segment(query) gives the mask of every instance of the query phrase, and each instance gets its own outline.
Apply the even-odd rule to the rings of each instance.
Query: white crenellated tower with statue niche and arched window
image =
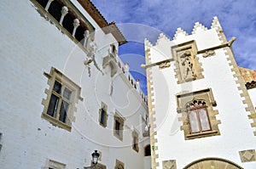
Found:
[[[256,168],[256,72],[236,65],[235,40],[216,17],[145,40],[152,168]]]

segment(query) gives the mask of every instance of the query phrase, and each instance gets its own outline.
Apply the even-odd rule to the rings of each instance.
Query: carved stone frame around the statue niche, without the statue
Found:
[[[191,82],[195,80],[199,80],[204,78],[202,75],[203,69],[201,68],[201,62],[199,61],[199,58],[196,56],[197,54],[197,46],[195,43],[195,40],[189,41],[189,42],[183,42],[181,44],[172,46],[172,57],[175,60],[175,77],[177,78],[177,84],[181,84],[184,82]],[[194,67],[193,70],[195,71],[195,78],[185,80],[182,76],[182,70],[180,67],[180,63],[182,60],[180,59],[180,56],[178,56],[178,53],[183,53],[186,55],[186,53],[189,52],[193,56],[193,62]]]

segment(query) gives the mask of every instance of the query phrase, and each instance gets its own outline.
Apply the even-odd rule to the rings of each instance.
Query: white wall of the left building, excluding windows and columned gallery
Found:
[[[0,166],[48,168],[49,161],[56,161],[67,169],[82,169],[90,166],[91,153],[97,149],[101,152],[99,163],[107,168],[114,168],[116,160],[128,169],[146,168],[150,164],[147,160],[144,164],[143,150],[148,143],[143,138],[147,99],[138,87],[131,85],[131,81],[136,81],[118,56],[116,67],[104,65],[111,45],[118,49],[117,40],[111,33],[105,34],[77,1],[72,2],[96,28],[95,58],[59,30],[48,15],[43,17],[31,1],[0,3],[4,16],[0,32]],[[89,59],[92,62],[84,64]],[[71,132],[42,118],[45,92],[49,90],[44,73],[49,74],[51,68],[60,70],[81,88]],[[111,76],[113,70],[117,72]],[[99,125],[102,103],[108,106],[107,127]],[[122,141],[113,136],[116,112],[125,119]],[[131,148],[133,131],[138,132],[138,152]]]

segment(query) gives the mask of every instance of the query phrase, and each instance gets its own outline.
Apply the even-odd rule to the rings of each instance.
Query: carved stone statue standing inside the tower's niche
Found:
[[[187,50],[183,54],[180,55],[181,60],[181,75],[185,82],[194,81],[196,79],[196,75],[193,68],[193,56],[190,51]]]

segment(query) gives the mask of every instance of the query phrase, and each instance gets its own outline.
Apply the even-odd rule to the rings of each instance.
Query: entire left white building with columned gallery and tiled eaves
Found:
[[[117,26],[89,0],[0,6],[1,168],[82,169],[95,149],[97,168],[150,168],[147,97]]]

